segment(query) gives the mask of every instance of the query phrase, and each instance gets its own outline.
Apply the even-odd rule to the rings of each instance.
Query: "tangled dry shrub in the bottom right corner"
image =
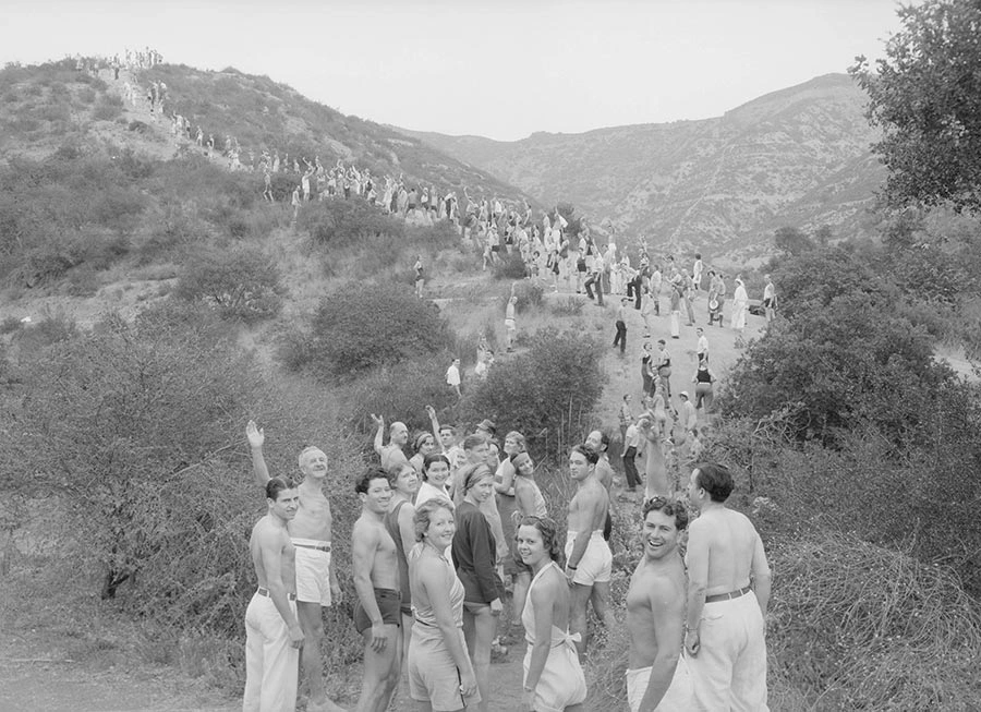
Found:
[[[977,710],[981,618],[945,567],[815,533],[771,552],[772,677],[816,710]]]

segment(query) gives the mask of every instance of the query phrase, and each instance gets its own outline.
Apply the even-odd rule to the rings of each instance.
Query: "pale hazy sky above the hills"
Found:
[[[879,57],[895,0],[0,0],[0,62],[155,47],[344,113],[517,140],[703,119]]]

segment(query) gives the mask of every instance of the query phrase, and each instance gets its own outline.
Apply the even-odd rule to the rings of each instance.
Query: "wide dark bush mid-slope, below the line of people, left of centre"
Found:
[[[355,283],[324,298],[310,348],[293,365],[320,377],[351,376],[443,353],[451,345],[450,328],[432,302],[401,285]]]

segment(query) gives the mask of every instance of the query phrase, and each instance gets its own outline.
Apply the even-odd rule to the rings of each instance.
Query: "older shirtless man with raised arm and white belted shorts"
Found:
[[[265,487],[269,470],[263,457],[266,435],[249,421],[245,436],[252,450],[252,471],[259,486]],[[324,638],[324,622],[320,607],[330,606],[340,600],[340,587],[334,567],[330,566],[331,523],[330,502],[324,495],[327,482],[327,456],[323,450],[307,447],[300,452],[300,472],[303,482],[296,487],[299,508],[295,518],[289,522],[289,534],[296,547],[296,613],[300,627],[306,639],[301,663],[310,681],[310,712],[343,712],[342,708],[327,699],[324,686],[324,665],[320,660],[320,641]],[[264,708],[265,709],[265,708]],[[291,708],[292,709],[292,708]]]

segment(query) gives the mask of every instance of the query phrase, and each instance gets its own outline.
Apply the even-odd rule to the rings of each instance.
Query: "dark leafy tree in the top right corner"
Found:
[[[898,10],[903,29],[873,70],[849,73],[869,93],[867,117],[883,129],[874,146],[891,205],[981,210],[981,2],[925,0]]]

